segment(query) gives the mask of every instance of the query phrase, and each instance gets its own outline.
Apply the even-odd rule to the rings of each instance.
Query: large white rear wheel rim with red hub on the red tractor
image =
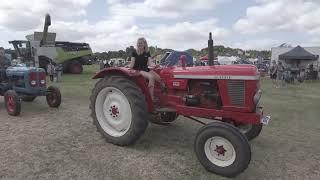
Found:
[[[114,87],[102,89],[96,99],[95,111],[101,128],[110,136],[123,136],[130,129],[131,106],[119,89]]]

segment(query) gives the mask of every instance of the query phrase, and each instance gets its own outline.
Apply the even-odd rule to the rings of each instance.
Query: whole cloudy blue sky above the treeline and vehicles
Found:
[[[149,45],[184,50],[215,44],[270,49],[282,43],[320,46],[318,0],[4,0],[0,43],[41,31],[49,12],[58,40],[120,50],[146,37]]]

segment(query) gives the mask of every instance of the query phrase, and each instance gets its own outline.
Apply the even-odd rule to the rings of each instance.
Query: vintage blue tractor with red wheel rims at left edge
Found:
[[[46,73],[42,68],[25,65],[0,65],[0,95],[4,96],[9,115],[18,116],[21,100],[33,101],[37,96],[46,96],[50,107],[59,107],[61,93],[57,87],[46,85]]]

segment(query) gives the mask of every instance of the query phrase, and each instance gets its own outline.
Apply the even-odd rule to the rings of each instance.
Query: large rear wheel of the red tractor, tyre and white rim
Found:
[[[90,101],[93,123],[110,143],[120,146],[133,144],[148,126],[144,95],[126,77],[101,79],[92,90]]]

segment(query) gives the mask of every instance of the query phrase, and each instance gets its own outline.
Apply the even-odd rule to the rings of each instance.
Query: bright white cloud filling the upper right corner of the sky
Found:
[[[318,0],[257,0],[247,8],[234,30],[244,33],[270,31],[302,31],[319,33],[320,2]]]

